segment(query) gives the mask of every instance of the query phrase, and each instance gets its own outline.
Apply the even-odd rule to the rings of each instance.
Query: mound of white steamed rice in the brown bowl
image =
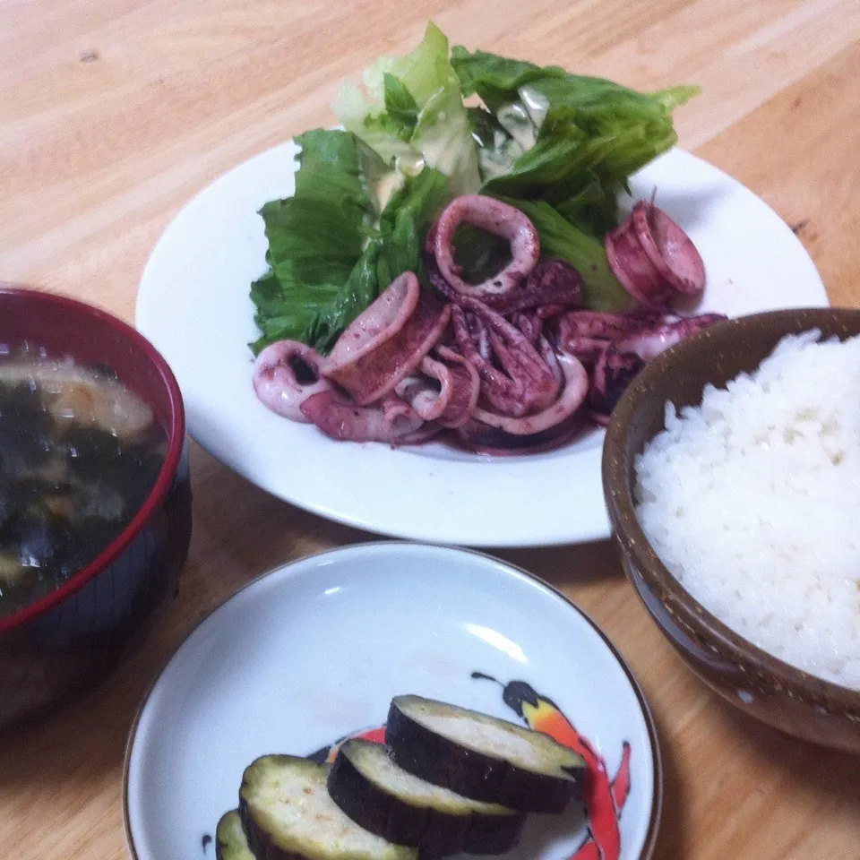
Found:
[[[642,529],[702,606],[860,690],[860,338],[788,336],[701,407],[667,403],[635,468]]]

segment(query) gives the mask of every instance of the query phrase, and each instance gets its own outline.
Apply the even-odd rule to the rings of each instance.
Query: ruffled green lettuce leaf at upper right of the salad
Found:
[[[486,193],[544,200],[597,236],[615,226],[615,199],[627,177],[677,142],[672,110],[698,92],[675,87],[649,95],[459,46],[452,65],[463,95],[477,93],[524,150],[501,171],[487,169],[493,159],[482,155]],[[471,120],[477,138],[486,137],[486,118],[473,112]],[[498,134],[494,142],[495,152],[511,145]]]

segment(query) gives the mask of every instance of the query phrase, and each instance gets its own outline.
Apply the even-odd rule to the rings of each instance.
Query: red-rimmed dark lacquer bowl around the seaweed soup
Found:
[[[60,588],[0,616],[0,726],[104,677],[176,595],[191,539],[185,412],[167,363],[131,326],[70,298],[0,285],[0,349],[109,366],[168,440],[159,477],[125,530]]]

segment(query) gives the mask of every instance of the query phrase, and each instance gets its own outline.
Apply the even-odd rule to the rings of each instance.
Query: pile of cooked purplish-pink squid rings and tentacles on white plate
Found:
[[[464,224],[502,236],[511,262],[469,283],[455,262]],[[701,256],[652,203],[606,236],[606,254],[637,305],[582,307],[580,273],[540,259],[538,233],[506,203],[451,202],[430,229],[429,287],[407,271],[341,335],[331,355],[282,340],[257,358],[262,402],[333,439],[425,442],[447,432],[494,453],[545,451],[589,422],[606,424],[633,376],[661,350],[724,319],[681,317],[668,305],[704,288]]]

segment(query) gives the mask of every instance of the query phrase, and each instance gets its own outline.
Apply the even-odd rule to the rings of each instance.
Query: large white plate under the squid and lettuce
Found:
[[[609,536],[603,431],[562,450],[488,458],[431,443],[337,443],[262,406],[251,385],[251,281],[265,269],[262,204],[293,193],[287,143],[231,170],[180,212],[143,272],[137,326],[167,358],[189,432],[230,468],[332,520],[400,538],[538,546]],[[692,237],[708,271],[701,311],[729,316],[826,305],[787,225],[730,176],[681,150],[632,181]]]

